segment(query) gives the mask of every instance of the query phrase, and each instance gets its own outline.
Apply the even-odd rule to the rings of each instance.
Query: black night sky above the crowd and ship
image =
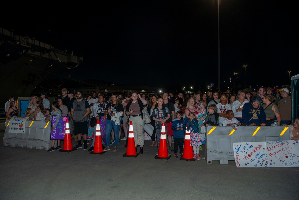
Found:
[[[99,1],[88,10],[13,13],[0,27],[74,52],[72,78],[182,90],[218,86],[217,1]],[[83,7],[83,6],[82,6]],[[48,10],[47,10],[48,9]],[[220,1],[221,89],[290,84],[298,74],[298,17],[287,1]],[[16,20],[17,19],[17,20]],[[236,83],[236,79],[235,79]]]

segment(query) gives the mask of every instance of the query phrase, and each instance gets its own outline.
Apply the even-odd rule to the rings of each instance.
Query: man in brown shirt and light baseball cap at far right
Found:
[[[288,88],[282,88],[279,91],[280,91],[280,96],[283,97],[278,102],[278,108],[281,117],[280,124],[289,125],[292,119],[292,98],[291,96],[289,96]]]

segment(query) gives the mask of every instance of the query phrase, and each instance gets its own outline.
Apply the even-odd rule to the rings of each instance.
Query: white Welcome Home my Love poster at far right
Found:
[[[299,141],[267,141],[266,146],[271,167],[299,167]]]

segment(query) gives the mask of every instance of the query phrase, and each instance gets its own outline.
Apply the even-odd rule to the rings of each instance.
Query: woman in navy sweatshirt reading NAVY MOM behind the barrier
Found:
[[[242,120],[247,126],[266,126],[266,114],[261,103],[262,97],[255,95],[251,98],[251,102],[244,104]]]

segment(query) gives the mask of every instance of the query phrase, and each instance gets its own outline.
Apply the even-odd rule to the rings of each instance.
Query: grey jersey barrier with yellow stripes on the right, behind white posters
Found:
[[[234,159],[234,142],[263,142],[289,140],[288,127],[273,126],[239,126],[234,130],[231,126],[208,126],[206,133],[206,161],[219,160],[220,164],[228,164]]]

